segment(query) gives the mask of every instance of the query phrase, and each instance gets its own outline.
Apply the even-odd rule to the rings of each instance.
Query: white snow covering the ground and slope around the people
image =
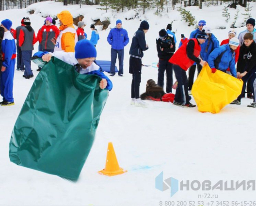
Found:
[[[61,5],[53,1],[41,2],[32,5],[38,9],[37,14],[29,15],[25,9],[2,11],[0,14],[2,19],[10,18],[13,21],[13,28],[19,25],[23,16],[30,16],[32,27],[37,32],[44,21],[39,12],[53,16],[68,9],[73,15],[86,14],[84,21],[87,25],[93,23],[89,16],[96,18],[104,13],[96,10],[96,6],[78,9],[79,6]],[[255,11],[256,3],[251,5]],[[232,23],[234,9],[230,9],[229,23],[225,23],[224,17],[221,16],[223,6],[205,7],[202,11],[197,7],[189,9],[197,21],[207,21],[220,42],[227,38],[229,28],[216,28]],[[189,36],[193,30],[180,21],[176,11],[163,13],[161,17],[154,16],[154,12],[148,11],[140,18],[147,19],[150,24],[149,32],[146,33],[149,50],[144,52],[144,64],[158,61],[155,38],[160,29],[165,28],[168,23],[174,21],[173,30],[176,32],[177,45],[181,33]],[[115,16],[112,16],[112,13],[103,14],[109,16],[112,22],[117,18],[122,19],[123,27],[128,30],[131,39],[139,27],[140,20],[125,20],[125,17],[130,15],[131,11]],[[253,17],[256,17],[255,14]],[[244,27],[236,29],[238,33],[242,30]],[[85,31],[90,38],[88,26]],[[109,30],[99,32],[98,60],[110,60],[111,47],[106,41],[108,33]],[[36,44],[34,51],[37,51],[37,46]],[[164,179],[174,177],[179,181],[210,180],[215,184],[219,180],[255,180],[256,110],[246,107],[252,102],[247,98],[242,99],[240,106],[228,105],[218,114],[200,113],[197,108],[185,109],[171,103],[152,101],[148,101],[148,108],[134,108],[129,105],[129,47],[130,43],[125,50],[124,77],[112,78],[114,87],[101,115],[96,141],[77,183],[70,183],[58,176],[19,167],[10,162],[8,152],[11,132],[34,80],[24,79],[22,72],[15,71],[15,106],[0,107],[0,206],[160,206],[160,201],[163,206],[206,206],[207,203],[208,206],[231,206],[231,201],[239,201],[241,206],[241,201],[247,201],[243,205],[249,206],[249,201],[256,201],[256,192],[252,189],[203,191],[201,188],[198,191],[178,191],[173,197],[170,197],[170,190],[161,192],[155,189],[155,177],[162,171]],[[38,72],[34,64],[32,69],[36,76]],[[153,67],[143,69],[141,93],[144,92],[148,79],[157,80],[157,73],[157,69]],[[128,173],[112,177],[97,174],[97,171],[105,166],[108,142],[113,143],[119,164],[128,170]],[[204,193],[218,195],[218,198],[198,196]],[[220,201],[229,203],[220,204]]]

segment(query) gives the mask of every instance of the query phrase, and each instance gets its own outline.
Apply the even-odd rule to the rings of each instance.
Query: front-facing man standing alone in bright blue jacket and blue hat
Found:
[[[113,28],[108,35],[108,43],[111,45],[111,67],[110,67],[110,76],[115,75],[115,63],[118,55],[119,61],[119,77],[123,77],[124,74],[124,56],[125,49],[124,47],[129,43],[128,32],[122,28],[122,21],[118,19],[116,21],[116,27]]]

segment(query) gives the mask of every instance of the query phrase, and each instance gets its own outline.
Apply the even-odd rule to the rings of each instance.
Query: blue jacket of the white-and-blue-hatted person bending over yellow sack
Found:
[[[226,50],[226,51],[225,51]],[[226,71],[227,68],[230,68],[230,72],[233,77],[237,77],[237,72],[236,72],[236,63],[235,63],[235,52],[231,50],[228,44],[222,45],[221,47],[215,48],[209,55],[208,57],[208,64],[210,68],[215,68],[214,65],[214,60],[218,56],[221,55],[221,53],[225,51],[223,54],[221,61],[219,63],[219,70],[221,71]]]

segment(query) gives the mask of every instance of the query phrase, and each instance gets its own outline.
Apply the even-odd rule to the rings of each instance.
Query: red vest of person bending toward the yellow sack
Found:
[[[198,43],[197,39],[190,39],[190,40],[194,41],[195,43],[194,53],[193,53],[194,56],[199,57],[199,54],[201,51],[200,44]],[[188,40],[187,42],[184,42],[183,45],[174,53],[174,55],[169,60],[170,63],[180,66],[185,71],[187,71],[188,68],[191,67],[194,63],[194,61],[192,61],[187,56],[187,44],[190,40]]]

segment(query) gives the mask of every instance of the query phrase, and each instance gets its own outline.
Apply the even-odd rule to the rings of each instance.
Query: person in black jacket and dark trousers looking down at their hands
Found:
[[[160,30],[159,37],[157,38],[159,57],[157,84],[163,88],[164,73],[166,72],[166,93],[172,93],[173,64],[169,63],[169,59],[174,55],[175,49],[174,36],[167,33],[164,29]]]

